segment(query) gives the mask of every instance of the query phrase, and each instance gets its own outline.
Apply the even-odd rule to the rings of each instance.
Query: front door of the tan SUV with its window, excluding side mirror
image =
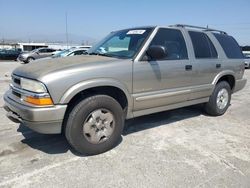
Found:
[[[159,28],[151,45],[167,49],[165,59],[134,62],[133,98],[134,110],[161,107],[184,102],[191,86],[192,66],[183,33],[179,29]]]

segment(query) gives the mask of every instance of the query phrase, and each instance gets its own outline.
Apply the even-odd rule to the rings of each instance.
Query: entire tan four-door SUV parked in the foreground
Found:
[[[88,55],[12,73],[4,109],[14,122],[64,133],[84,154],[119,143],[125,119],[203,103],[223,115],[246,79],[241,49],[224,31],[188,25],[111,32]]]

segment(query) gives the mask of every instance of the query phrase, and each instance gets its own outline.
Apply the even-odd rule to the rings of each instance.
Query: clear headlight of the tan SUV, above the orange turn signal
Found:
[[[30,80],[30,79],[26,79],[26,78],[21,78],[21,88],[27,91],[32,91],[32,92],[36,92],[36,93],[46,93],[47,90],[45,88],[45,86],[38,81],[35,80]]]

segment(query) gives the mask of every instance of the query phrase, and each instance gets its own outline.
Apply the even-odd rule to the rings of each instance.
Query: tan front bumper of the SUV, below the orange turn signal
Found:
[[[16,123],[23,123],[30,129],[44,134],[59,134],[67,105],[49,107],[32,107],[21,104],[9,96],[11,91],[4,94],[4,109],[7,117]]]

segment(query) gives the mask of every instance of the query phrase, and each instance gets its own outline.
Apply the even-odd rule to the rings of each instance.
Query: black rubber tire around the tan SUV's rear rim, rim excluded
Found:
[[[218,105],[217,105],[217,97],[218,97],[219,92],[222,89],[225,89],[227,91],[228,100],[227,100],[227,103],[226,103],[225,107],[219,108]],[[213,91],[212,95],[209,98],[209,101],[205,104],[206,113],[211,115],[211,116],[223,115],[227,111],[227,109],[228,109],[228,107],[230,105],[231,92],[232,92],[231,87],[228,84],[228,82],[221,81],[221,82],[217,83],[215,88],[214,88],[214,91]]]

